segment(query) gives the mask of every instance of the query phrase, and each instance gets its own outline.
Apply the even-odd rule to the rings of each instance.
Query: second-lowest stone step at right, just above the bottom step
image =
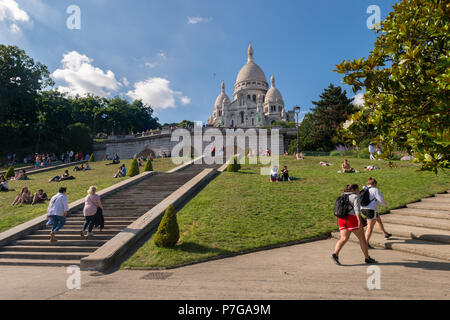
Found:
[[[450,243],[450,231],[437,230],[413,226],[405,226],[393,223],[383,223],[387,232],[392,233],[398,237],[404,237],[407,239],[417,239],[438,243]],[[374,233],[381,233],[380,229],[375,226]]]

